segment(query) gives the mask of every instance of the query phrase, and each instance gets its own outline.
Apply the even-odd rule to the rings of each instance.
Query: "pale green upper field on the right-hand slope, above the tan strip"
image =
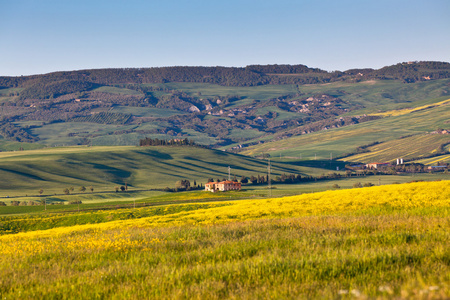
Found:
[[[439,99],[439,101],[442,100]],[[274,157],[283,155],[291,157],[301,156],[304,159],[329,159],[330,155],[337,157],[346,153],[353,153],[357,147],[369,145],[376,141],[393,141],[404,136],[420,135],[435,131],[438,128],[447,128],[449,126],[447,123],[449,115],[450,104],[446,103],[404,115],[323,130],[288,139],[271,141],[270,138],[267,138],[266,143],[250,146],[241,153],[251,156],[269,153]],[[442,137],[443,142],[445,142],[445,139],[445,137]],[[433,146],[436,146],[436,144],[433,144]],[[428,149],[428,146],[425,146],[425,149]],[[433,149],[428,150],[433,151]],[[412,151],[414,149],[411,149],[410,152]],[[395,151],[392,151],[389,157],[386,159],[380,157],[380,159],[388,160],[390,157],[397,158],[408,154],[401,151],[398,154],[395,153]],[[422,153],[422,155],[427,155],[428,153]],[[414,155],[420,154],[416,153]]]

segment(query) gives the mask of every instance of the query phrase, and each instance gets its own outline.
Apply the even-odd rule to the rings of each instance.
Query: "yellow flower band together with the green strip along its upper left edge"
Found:
[[[402,212],[447,215],[449,210],[450,181],[416,182],[258,200],[178,204],[81,214],[3,217],[0,219],[0,234],[48,229],[47,232],[36,231],[35,234],[39,236],[78,230],[109,230],[123,226],[223,224],[311,215],[380,215]],[[52,229],[53,227],[60,228]],[[21,235],[31,237],[33,233],[21,233],[17,237]]]

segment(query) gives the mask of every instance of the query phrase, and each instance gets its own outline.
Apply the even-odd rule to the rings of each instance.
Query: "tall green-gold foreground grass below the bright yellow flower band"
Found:
[[[11,257],[1,264],[0,288],[6,299],[443,299],[450,295],[449,237],[440,222],[449,219],[325,216],[135,228],[126,233],[130,241],[147,241],[139,247],[56,246]],[[103,239],[112,243],[115,236],[119,230]],[[77,238],[83,236],[51,243]]]

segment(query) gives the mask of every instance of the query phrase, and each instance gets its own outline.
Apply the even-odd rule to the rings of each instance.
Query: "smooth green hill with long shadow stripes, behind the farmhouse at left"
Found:
[[[0,196],[61,194],[64,188],[94,186],[113,191],[125,182],[131,188],[174,187],[180,179],[205,183],[210,177],[257,176],[267,172],[267,161],[223,151],[190,147],[69,147],[0,153]],[[314,173],[316,169],[274,163],[281,173]]]

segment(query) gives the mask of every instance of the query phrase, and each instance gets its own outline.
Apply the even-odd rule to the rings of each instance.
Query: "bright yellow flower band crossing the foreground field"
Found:
[[[7,252],[3,243],[6,241],[14,240],[18,242],[30,238],[52,238],[80,231],[101,234],[103,231],[126,227],[224,224],[263,218],[349,214],[374,208],[406,210],[426,207],[450,207],[450,181],[416,182],[340,191],[333,190],[282,198],[221,202],[218,207],[183,211],[163,216],[18,233],[0,236],[0,242],[2,242],[0,254]],[[33,251],[38,251],[36,249],[39,249],[39,247],[33,247],[33,249]]]

